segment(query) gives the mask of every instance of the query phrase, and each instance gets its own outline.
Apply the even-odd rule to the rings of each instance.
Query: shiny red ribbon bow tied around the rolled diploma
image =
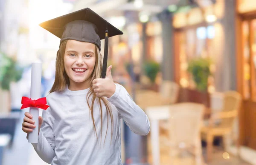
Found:
[[[46,110],[49,106],[46,105],[47,101],[46,98],[38,98],[37,100],[31,100],[31,98],[22,96],[21,98],[22,106],[20,109],[27,108],[27,107],[36,107]]]

